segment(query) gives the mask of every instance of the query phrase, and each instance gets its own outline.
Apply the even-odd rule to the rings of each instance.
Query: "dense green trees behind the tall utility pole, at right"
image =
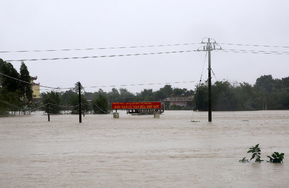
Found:
[[[208,84],[196,85],[195,109],[208,111]],[[213,111],[289,109],[289,77],[273,79],[272,75],[257,78],[256,83],[217,81],[212,84]]]

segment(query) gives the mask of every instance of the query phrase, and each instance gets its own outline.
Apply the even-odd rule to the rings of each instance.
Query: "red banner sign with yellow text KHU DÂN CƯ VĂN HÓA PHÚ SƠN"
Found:
[[[111,103],[112,109],[162,108],[161,102]]]

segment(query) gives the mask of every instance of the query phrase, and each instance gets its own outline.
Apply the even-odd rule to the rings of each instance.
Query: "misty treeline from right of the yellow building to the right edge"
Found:
[[[194,94],[194,101],[192,101],[192,103],[195,104],[194,109],[208,111],[208,82],[195,86],[195,90],[188,90],[186,88],[173,88],[171,85],[164,85],[164,87],[156,91],[144,89],[136,94],[133,94],[126,88],[112,88],[109,92],[99,89],[97,92],[86,93],[83,91],[82,97],[85,103],[87,103],[86,99],[98,100],[99,98],[105,98],[108,103],[107,108],[110,108],[111,102],[162,101],[164,98]],[[58,95],[59,102],[57,104],[77,105],[78,91],[76,89],[77,83],[75,83],[74,90],[72,89],[62,93],[53,92]],[[53,96],[49,93],[51,92],[42,93],[42,101]],[[101,105],[101,103],[98,103],[98,105]],[[88,109],[91,110],[92,107],[88,107]],[[262,109],[289,109],[289,77],[273,79],[272,75],[264,75],[257,78],[254,85],[246,82],[229,82],[227,80],[212,83],[213,111],[248,111]]]

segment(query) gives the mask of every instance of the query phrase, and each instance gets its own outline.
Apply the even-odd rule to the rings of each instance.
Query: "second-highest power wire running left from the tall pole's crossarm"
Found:
[[[182,52],[194,52],[194,51],[197,51],[197,50],[158,52],[158,53],[138,53],[138,54],[126,54],[126,55],[103,55],[103,56],[88,56],[88,57],[64,57],[64,58],[48,58],[48,59],[21,59],[21,60],[6,60],[6,62],[56,60],[56,59],[85,59],[85,58],[96,58],[96,57],[120,57],[120,56],[131,56],[131,55],[152,55],[152,54],[182,53]]]

